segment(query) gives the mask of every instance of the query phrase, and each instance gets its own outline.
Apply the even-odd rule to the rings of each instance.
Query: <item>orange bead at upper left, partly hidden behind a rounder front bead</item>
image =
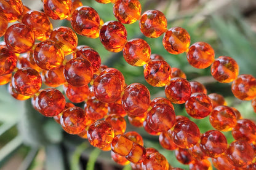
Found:
[[[39,41],[49,39],[52,23],[44,12],[30,10],[23,16],[22,23],[33,30],[34,37]]]

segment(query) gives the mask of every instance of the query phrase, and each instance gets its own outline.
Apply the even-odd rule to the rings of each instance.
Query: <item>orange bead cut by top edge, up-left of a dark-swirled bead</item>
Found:
[[[70,15],[71,4],[71,0],[44,0],[44,12],[54,20],[63,20]]]

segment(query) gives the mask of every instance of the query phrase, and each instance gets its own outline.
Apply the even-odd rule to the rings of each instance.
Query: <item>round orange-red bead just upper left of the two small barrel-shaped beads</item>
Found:
[[[89,126],[87,137],[91,145],[103,149],[110,146],[114,138],[114,129],[110,123],[97,120]]]

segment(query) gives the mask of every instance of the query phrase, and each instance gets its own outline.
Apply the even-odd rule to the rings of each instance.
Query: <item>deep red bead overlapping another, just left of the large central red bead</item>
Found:
[[[84,58],[74,58],[65,65],[64,76],[66,82],[75,87],[84,86],[92,80],[92,64]]]

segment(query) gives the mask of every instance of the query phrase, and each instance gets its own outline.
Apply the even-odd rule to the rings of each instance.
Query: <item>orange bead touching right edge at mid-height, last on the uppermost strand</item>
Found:
[[[250,74],[238,75],[231,86],[233,95],[241,100],[251,100],[256,97],[256,80]]]

